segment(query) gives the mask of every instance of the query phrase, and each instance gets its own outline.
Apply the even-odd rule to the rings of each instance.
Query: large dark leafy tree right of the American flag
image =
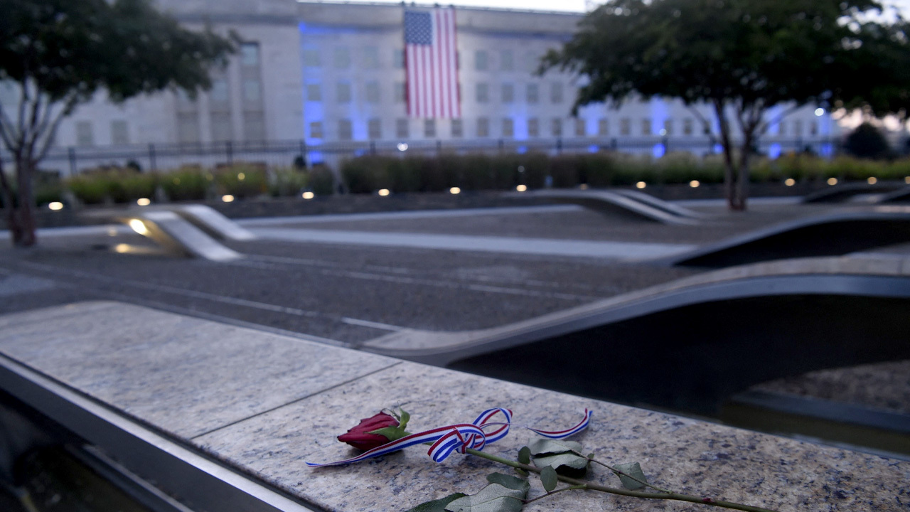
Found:
[[[880,9],[863,0],[612,0],[544,56],[540,72],[560,67],[584,78],[573,114],[632,95],[678,98],[710,132],[695,108],[709,106],[728,204],[745,210],[751,149],[794,109],[906,111],[907,25],[899,16],[881,21]],[[775,107],[780,115],[769,118]]]

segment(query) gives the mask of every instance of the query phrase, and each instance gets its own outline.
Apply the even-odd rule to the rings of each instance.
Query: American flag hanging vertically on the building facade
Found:
[[[455,9],[404,12],[410,118],[460,118]]]

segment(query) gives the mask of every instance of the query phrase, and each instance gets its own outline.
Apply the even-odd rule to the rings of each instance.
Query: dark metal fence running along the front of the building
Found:
[[[833,156],[839,145],[834,138],[763,138],[756,148],[776,158],[790,151],[812,151],[824,157]],[[316,163],[337,165],[340,160],[361,155],[444,153],[561,153],[618,151],[661,158],[673,151],[696,155],[719,153],[715,138],[642,137],[642,138],[538,138],[514,140],[505,138],[448,140],[373,140],[342,141],[320,144],[306,140],[267,140],[261,142],[217,142],[199,144],[147,144],[129,146],[53,148],[41,162],[41,168],[61,175],[76,174],[100,167],[138,167],[143,171],[170,170],[198,165],[217,168],[237,162],[263,164],[269,167],[312,166]],[[6,161],[9,161],[5,157]]]

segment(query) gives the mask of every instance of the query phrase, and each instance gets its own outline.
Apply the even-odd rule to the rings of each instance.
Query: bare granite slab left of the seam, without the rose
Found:
[[[113,302],[0,322],[6,355],[176,435],[198,435],[396,363]]]

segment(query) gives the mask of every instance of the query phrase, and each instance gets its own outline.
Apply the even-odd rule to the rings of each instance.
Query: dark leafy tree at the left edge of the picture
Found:
[[[0,81],[18,104],[0,105],[0,139],[15,163],[0,190],[15,246],[35,243],[32,180],[60,121],[104,89],[116,102],[165,88],[195,94],[227,64],[230,38],[195,33],[148,0],[0,0]]]

